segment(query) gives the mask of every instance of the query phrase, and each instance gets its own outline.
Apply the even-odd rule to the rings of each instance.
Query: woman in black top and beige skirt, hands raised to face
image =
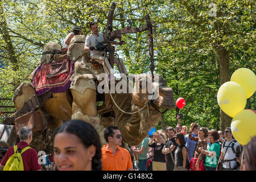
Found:
[[[166,171],[166,158],[162,153],[164,144],[166,143],[166,135],[163,130],[156,131],[148,146],[154,148],[154,159],[152,162],[153,171]]]

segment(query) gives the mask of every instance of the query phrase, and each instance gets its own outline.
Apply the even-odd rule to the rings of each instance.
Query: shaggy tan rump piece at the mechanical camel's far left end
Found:
[[[16,110],[22,108],[24,102],[28,100],[31,96],[35,94],[35,88],[31,83],[22,83],[15,90],[13,95],[13,102]]]

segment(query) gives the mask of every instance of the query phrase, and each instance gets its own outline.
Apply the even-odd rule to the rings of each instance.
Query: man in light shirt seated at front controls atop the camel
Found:
[[[102,43],[104,41],[104,36],[102,33],[98,32],[98,24],[96,22],[90,23],[90,30],[92,34],[86,36],[84,50],[90,51],[90,58],[96,60],[100,64],[106,65],[106,73],[110,74],[110,69],[113,69],[109,64],[109,61],[106,57],[104,57],[104,51],[96,50],[96,45],[98,43]],[[119,73],[124,73],[128,75],[125,64],[123,64],[123,60],[121,58],[114,58],[114,64],[117,64]]]

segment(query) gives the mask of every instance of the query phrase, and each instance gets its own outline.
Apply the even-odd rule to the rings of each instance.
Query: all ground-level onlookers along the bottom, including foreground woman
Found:
[[[255,171],[256,136],[245,146],[233,137],[229,127],[222,131],[208,130],[191,123],[188,134],[179,124],[157,130],[139,146],[123,148],[118,127],[108,126],[101,146],[97,131],[88,122],[71,120],[54,134],[53,161],[59,171]],[[184,135],[186,134],[186,135]],[[222,137],[220,137],[220,135]],[[32,130],[19,131],[17,147],[7,150],[0,171],[10,168],[11,156],[20,151],[24,171],[41,170],[38,155],[29,147]],[[245,149],[245,151],[243,151]],[[15,151],[16,150],[16,151]]]

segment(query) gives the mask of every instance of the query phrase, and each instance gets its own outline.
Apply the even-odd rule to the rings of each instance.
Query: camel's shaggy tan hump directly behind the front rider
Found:
[[[68,56],[71,60],[77,60],[80,56],[84,55],[84,35],[75,35],[68,46]]]

